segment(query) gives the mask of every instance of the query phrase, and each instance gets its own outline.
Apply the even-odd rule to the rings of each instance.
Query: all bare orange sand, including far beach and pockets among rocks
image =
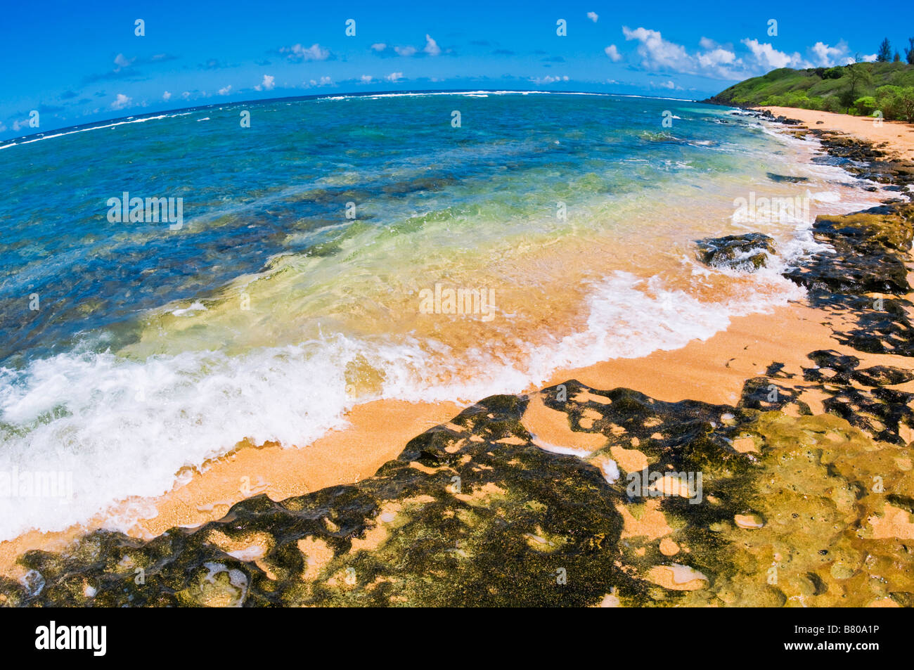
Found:
[[[798,119],[811,129],[850,133],[877,144],[899,159],[914,158],[914,129],[906,124],[886,122],[882,127],[874,127],[869,120],[839,114],[770,109],[775,115]],[[787,130],[793,131],[795,127]],[[779,380],[798,394],[798,399],[812,410],[813,415],[818,415],[825,411],[823,394],[817,384],[804,381],[804,370],[812,365],[808,356],[810,352],[830,350],[838,356],[856,356],[860,367],[887,366],[914,370],[908,356],[861,353],[848,346],[841,336],[845,325],[841,323],[841,318],[841,315],[813,306],[808,301],[791,303],[767,314],[735,317],[725,331],[706,340],[693,340],[679,349],[558,370],[546,386],[576,379],[590,388],[631,388],[671,403],[691,399],[714,405],[735,405],[748,380],[764,377],[769,374],[769,367],[778,363],[782,364],[778,372]],[[914,382],[900,383],[893,388],[912,391]],[[537,390],[529,388],[528,393],[537,397]],[[794,405],[794,409],[785,408],[783,411],[791,413],[795,407],[799,404]],[[198,471],[183,473],[182,484],[176,485],[167,495],[152,500],[126,501],[122,505],[123,516],[142,517],[142,521],[127,532],[138,538],[155,537],[173,526],[200,526],[217,520],[225,516],[231,505],[250,495],[265,493],[272,500],[279,501],[335,484],[364,480],[376,473],[382,464],[396,458],[409,440],[434,426],[447,425],[461,410],[460,406],[450,402],[379,400],[357,406],[347,416],[347,428],[333,431],[312,444],[298,445],[297,449],[282,449],[275,444],[239,445],[228,456],[207,463]],[[561,420],[556,423],[556,419],[550,419],[545,410],[529,410],[524,421],[527,430],[550,444],[564,440],[565,443],[558,446],[572,450],[580,448],[581,435],[570,433],[567,425],[562,425],[564,415],[558,416]],[[908,431],[907,428],[904,430]],[[543,436],[548,436],[548,439]],[[906,441],[910,437],[907,435]],[[587,440],[584,439],[584,442]],[[640,457],[632,453],[624,450],[613,452],[616,460],[623,465],[626,455],[629,463],[639,462]],[[872,526],[877,533],[884,537],[907,537],[905,519],[899,517],[898,524],[893,526],[887,518],[873,520]],[[675,551],[671,549],[676,545],[667,537],[669,528],[666,528],[663,516],[655,521],[659,526],[654,526],[654,530],[649,530],[647,535],[663,542],[661,550],[664,554],[674,554],[678,548]],[[106,523],[106,519],[96,518],[88,526],[73,527],[64,533],[32,532],[0,543],[0,571],[19,577],[24,574],[24,569],[16,566],[15,561],[25,550],[59,550],[82,532],[104,527]],[[638,535],[631,529],[631,524],[635,523],[634,519],[626,516],[627,532]],[[649,519],[638,523],[647,524]],[[657,527],[661,530],[654,532]],[[679,579],[673,572],[661,574],[663,569],[653,569],[650,574],[654,577],[650,579],[670,589],[699,589],[706,583],[702,580],[707,581],[700,573],[690,573]]]

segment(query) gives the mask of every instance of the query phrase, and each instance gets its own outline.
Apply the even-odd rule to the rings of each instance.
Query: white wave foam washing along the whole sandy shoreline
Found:
[[[133,122],[154,118],[163,117]],[[819,180],[849,179],[827,165],[798,169]],[[806,187],[798,185],[801,189]],[[811,197],[817,210],[834,212],[866,207],[877,198],[861,192],[858,203],[856,195],[848,199],[854,193],[835,189]],[[309,444],[344,426],[345,412],[356,401],[469,403],[541,385],[558,368],[646,356],[707,339],[726,329],[734,316],[764,313],[804,294],[781,271],[821,245],[809,222],[783,223],[795,229],[780,236],[779,254],[770,266],[751,275],[754,289],[705,303],[660,277],[616,272],[591,286],[584,328],[529,347],[521,364],[494,357],[484,344],[455,361],[452,350],[436,342],[334,335],[243,356],[185,352],[128,360],[112,353],[71,352],[33,361],[22,370],[0,368],[0,472],[69,472],[74,488],[66,502],[0,497],[0,540],[33,527],[59,530],[86,521],[131,496],[161,495],[177,482],[175,473],[182,468],[197,467],[246,438],[257,444]],[[683,262],[694,275],[746,278],[692,258]],[[193,302],[173,314],[203,309],[203,303]],[[359,399],[347,392],[345,378],[347,364],[356,360],[366,361],[384,378],[376,393]],[[471,368],[474,374],[457,376],[459,382],[435,381],[448,378],[449,370]],[[135,518],[153,514],[141,500],[127,516],[112,519],[112,526],[127,527]]]

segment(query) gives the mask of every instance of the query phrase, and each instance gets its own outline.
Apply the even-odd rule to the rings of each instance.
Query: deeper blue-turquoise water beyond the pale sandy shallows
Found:
[[[353,226],[346,202],[375,228],[424,209],[517,216],[576,189],[618,197],[685,169],[735,171],[739,154],[713,149],[765,141],[745,124],[709,126],[719,109],[682,106],[557,95],[273,102],[250,108],[247,129],[248,108],[236,105],[7,147],[0,179],[16,186],[0,199],[0,361],[66,350],[102,328],[99,346],[129,342],[143,310],[217,290],[275,254],[328,248]],[[688,116],[675,134],[661,126],[671,108]],[[632,156],[641,161],[621,160]],[[183,197],[186,229],[109,222],[105,203],[123,191]]]

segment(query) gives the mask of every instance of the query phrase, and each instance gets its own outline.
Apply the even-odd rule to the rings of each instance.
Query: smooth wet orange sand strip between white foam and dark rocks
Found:
[[[821,311],[793,303],[771,314],[736,317],[726,331],[705,341],[693,340],[674,351],[558,370],[549,384],[576,378],[592,388],[632,388],[667,401],[734,403],[746,379],[764,374],[773,361],[785,364],[785,371],[801,373],[802,378],[800,367],[812,365],[807,352],[833,348],[850,353],[834,340],[824,320]],[[890,364],[900,367],[904,363],[893,360]],[[197,526],[218,519],[231,505],[250,495],[266,493],[273,500],[282,500],[324,486],[355,482],[395,458],[410,439],[447,423],[461,409],[447,402],[400,400],[359,405],[347,417],[348,428],[331,432],[311,445],[299,449],[277,445],[241,448],[209,463],[202,473],[188,473],[189,481],[168,494],[154,500],[127,501],[119,511],[133,516],[147,510],[145,514],[139,512],[145,518],[127,532],[133,537],[154,537],[172,526]],[[19,571],[14,565],[16,556],[29,548],[63,548],[81,532],[106,526],[106,518],[98,517],[86,527],[62,533],[32,532],[2,542],[0,572],[15,575]]]

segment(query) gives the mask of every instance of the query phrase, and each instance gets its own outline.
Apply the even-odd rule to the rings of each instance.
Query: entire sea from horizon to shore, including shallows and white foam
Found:
[[[340,97],[48,135],[0,148],[0,470],[71,472],[75,495],[0,500],[0,539],[164,493],[244,439],[305,445],[366,399],[472,401],[707,337],[798,294],[694,262],[692,240],[741,231],[734,197],[856,205],[834,168],[772,181],[799,148],[684,101]],[[124,192],[182,198],[180,229],[110,220]],[[811,244],[766,226],[785,258]],[[425,318],[435,282],[494,292],[498,318]]]

